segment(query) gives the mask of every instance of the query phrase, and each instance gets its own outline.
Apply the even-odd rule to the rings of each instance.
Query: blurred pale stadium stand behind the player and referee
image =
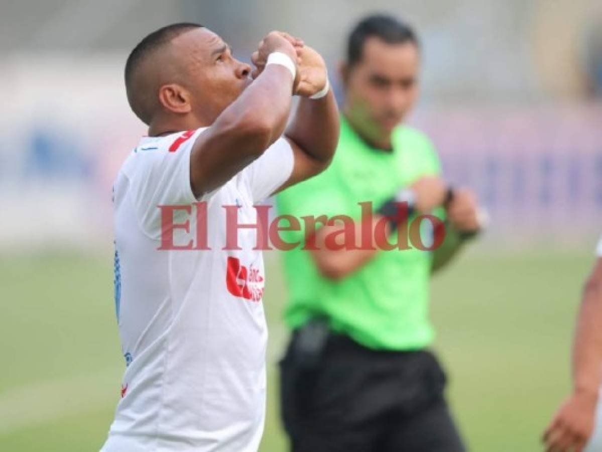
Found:
[[[338,87],[347,31],[374,10],[417,27],[423,99],[411,123],[448,178],[482,196],[492,244],[579,243],[601,224],[598,1],[0,0],[0,10],[0,247],[110,244],[111,182],[144,133],[122,67],[144,34],[198,21],[248,60],[267,31],[285,29],[323,52]]]

